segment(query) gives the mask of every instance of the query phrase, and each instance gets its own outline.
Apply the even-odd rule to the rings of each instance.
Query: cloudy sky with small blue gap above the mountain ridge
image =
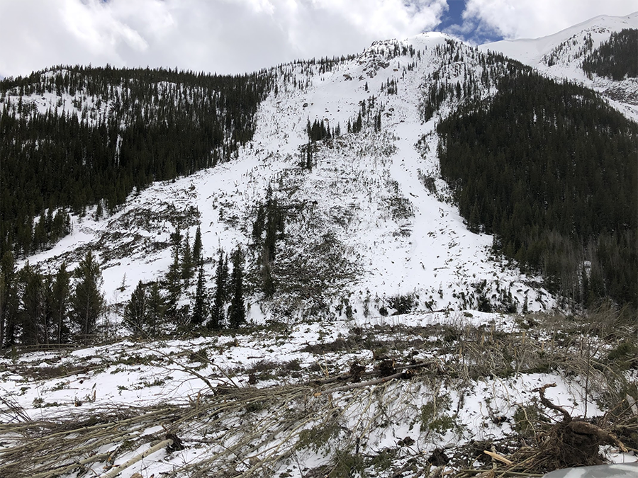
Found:
[[[537,38],[638,0],[0,0],[0,76],[110,63],[242,73],[424,31]]]

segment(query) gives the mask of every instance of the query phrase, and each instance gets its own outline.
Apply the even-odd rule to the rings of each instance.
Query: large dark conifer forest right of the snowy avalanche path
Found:
[[[439,127],[441,172],[474,232],[585,305],[638,300],[638,126],[529,69]]]

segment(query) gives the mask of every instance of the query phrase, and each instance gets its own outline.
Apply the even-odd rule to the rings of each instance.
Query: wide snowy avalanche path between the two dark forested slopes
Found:
[[[442,52],[446,46],[452,53]],[[454,52],[464,60],[444,61]],[[233,161],[156,183],[104,220],[76,217],[70,237],[29,261],[53,267],[62,258],[79,260],[91,246],[103,261],[107,300],[123,302],[138,280],[155,280],[167,271],[170,217],[179,212],[191,240],[201,223],[210,277],[220,247],[228,252],[237,244],[250,246],[256,205],[271,186],[280,203],[296,211],[287,220],[286,239],[277,246],[286,271],[303,271],[299,264],[322,247],[341,261],[330,271],[330,264],[308,266],[308,274],[325,284],[320,302],[328,305],[323,307],[327,314],[340,314],[346,302],[359,317],[364,310],[378,313],[397,295],[411,295],[415,309],[425,312],[471,309],[481,283],[494,305],[511,294],[519,310],[526,300],[530,310],[552,307],[554,300],[537,287],[538,278],[493,258],[491,237],[466,229],[438,175],[437,117],[427,123],[420,119],[420,101],[432,74],[450,82],[462,81],[469,70],[478,77],[478,55],[445,35],[427,33],[403,42],[376,42],[330,68],[308,63],[278,67],[278,87],[259,108],[254,140]],[[388,93],[393,81],[397,91]],[[347,123],[357,118],[363,102],[371,115],[381,112],[381,130],[366,125],[348,134]],[[308,120],[340,125],[342,131],[341,137],[318,143],[312,171],[300,166]],[[423,178],[432,178],[436,191],[428,190]],[[316,312],[316,291],[295,294],[281,292],[268,302],[257,292],[250,297],[249,317],[282,319],[281,311],[291,307],[295,317]]]

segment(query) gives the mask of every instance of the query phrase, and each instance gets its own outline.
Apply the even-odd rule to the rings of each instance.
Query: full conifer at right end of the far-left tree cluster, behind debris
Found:
[[[102,272],[91,251],[73,273],[76,283],[71,297],[72,319],[84,336],[84,343],[89,342],[91,334],[96,331],[97,319],[104,309],[104,297],[100,290]]]

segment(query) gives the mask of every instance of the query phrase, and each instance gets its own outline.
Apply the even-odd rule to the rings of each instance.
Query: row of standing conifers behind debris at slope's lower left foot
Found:
[[[174,261],[167,273],[140,280],[121,310],[122,323],[135,336],[157,337],[194,329],[237,329],[246,321],[245,252],[218,251],[213,277],[204,271],[201,232],[172,234]],[[12,346],[93,343],[108,312],[101,265],[87,252],[73,271],[62,262],[43,273],[28,262],[16,269],[11,251],[0,261],[0,351]],[[187,294],[195,285],[194,294]],[[124,287],[124,286],[123,286]],[[121,290],[123,290],[123,287]]]

